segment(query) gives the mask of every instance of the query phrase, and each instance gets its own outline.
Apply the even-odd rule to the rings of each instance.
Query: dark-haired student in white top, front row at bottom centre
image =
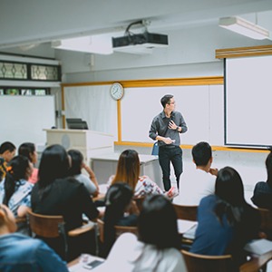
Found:
[[[177,216],[170,200],[147,196],[138,219],[139,238],[124,233],[95,271],[187,271],[180,254]]]

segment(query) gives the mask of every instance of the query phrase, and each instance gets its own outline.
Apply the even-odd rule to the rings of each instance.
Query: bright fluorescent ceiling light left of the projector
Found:
[[[112,36],[109,34],[99,34],[53,41],[51,45],[53,48],[57,49],[79,51],[85,53],[113,53]]]

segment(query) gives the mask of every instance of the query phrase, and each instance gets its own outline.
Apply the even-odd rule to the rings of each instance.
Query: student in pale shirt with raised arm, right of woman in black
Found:
[[[71,167],[69,169],[69,175],[74,179],[82,182],[88,192],[96,197],[99,192],[98,182],[92,171],[92,169],[83,162],[83,154],[80,151],[70,150],[68,155],[71,158]],[[82,173],[82,169],[86,170],[90,176],[90,179]]]

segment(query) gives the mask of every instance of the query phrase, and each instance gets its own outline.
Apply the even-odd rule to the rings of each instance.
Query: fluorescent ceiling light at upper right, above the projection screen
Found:
[[[219,19],[219,26],[227,28],[238,34],[248,36],[256,40],[270,39],[270,33],[267,29],[257,24],[252,24],[240,17],[224,17]]]

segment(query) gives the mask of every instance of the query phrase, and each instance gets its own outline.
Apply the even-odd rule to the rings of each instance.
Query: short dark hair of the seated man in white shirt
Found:
[[[208,142],[200,141],[192,148],[191,154],[197,166],[206,166],[211,159],[211,147]]]

